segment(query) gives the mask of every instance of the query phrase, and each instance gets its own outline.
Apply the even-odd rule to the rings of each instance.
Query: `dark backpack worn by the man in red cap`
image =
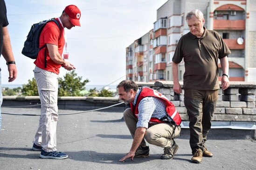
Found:
[[[36,59],[38,52],[46,47],[46,44],[39,47],[39,37],[42,32],[43,27],[46,25],[46,23],[53,21],[59,29],[61,29],[60,24],[57,20],[54,20],[53,18],[50,20],[43,20],[39,23],[35,23],[31,26],[30,31],[28,33],[27,39],[24,42],[24,47],[22,48],[21,53],[31,59]],[[45,53],[45,68],[46,68],[46,53]]]

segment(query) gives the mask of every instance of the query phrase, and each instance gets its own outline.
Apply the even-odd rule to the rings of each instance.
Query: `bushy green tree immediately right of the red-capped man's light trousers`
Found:
[[[82,81],[82,77],[77,76],[75,70],[67,72],[63,78],[59,78],[59,96],[82,96],[80,92],[85,90],[88,79]]]

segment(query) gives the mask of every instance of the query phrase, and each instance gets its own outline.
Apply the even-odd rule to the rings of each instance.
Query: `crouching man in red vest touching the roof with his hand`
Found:
[[[173,140],[180,136],[181,118],[174,105],[161,93],[150,88],[139,88],[131,80],[118,86],[118,95],[131,108],[124,111],[125,123],[133,142],[129,153],[120,159],[149,157],[149,144],[164,148],[160,159],[173,159],[179,146]]]

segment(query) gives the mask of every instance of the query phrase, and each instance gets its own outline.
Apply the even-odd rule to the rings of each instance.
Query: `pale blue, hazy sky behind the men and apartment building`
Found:
[[[81,10],[81,27],[66,30],[69,62],[88,85],[116,85],[125,79],[125,48],[153,28],[157,9],[167,0],[5,0],[8,31],[18,77],[8,83],[7,65],[0,58],[2,84],[27,84],[34,77],[34,60],[21,54],[32,24],[59,17],[74,4]],[[61,68],[60,77],[66,73]]]

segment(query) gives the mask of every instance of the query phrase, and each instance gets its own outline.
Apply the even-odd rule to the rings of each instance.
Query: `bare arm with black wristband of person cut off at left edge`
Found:
[[[6,60],[6,62],[15,61],[7,26],[4,26],[2,28],[2,31],[3,31],[2,55],[3,55],[4,59]],[[9,72],[8,82],[12,82],[17,78],[17,68],[16,68],[15,64],[9,64],[9,65],[7,65],[7,67],[8,67],[8,72]]]

